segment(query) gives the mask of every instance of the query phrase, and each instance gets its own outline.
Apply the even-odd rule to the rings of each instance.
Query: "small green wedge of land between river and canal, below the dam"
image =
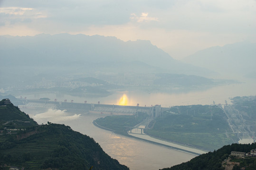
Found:
[[[94,121],[95,125],[105,127],[109,130],[113,130],[115,133],[127,135],[129,127],[133,127],[142,120],[147,118],[147,113],[138,112],[133,116],[121,115],[121,116],[107,116],[105,118],[99,118]]]

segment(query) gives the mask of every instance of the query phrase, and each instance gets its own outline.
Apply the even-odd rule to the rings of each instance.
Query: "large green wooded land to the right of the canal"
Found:
[[[213,151],[232,144],[227,117],[218,106],[175,106],[151,122],[144,132],[150,136]],[[232,133],[229,137],[236,139]]]

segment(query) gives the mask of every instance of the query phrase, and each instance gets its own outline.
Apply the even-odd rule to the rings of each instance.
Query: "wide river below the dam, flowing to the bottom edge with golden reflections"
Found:
[[[61,110],[32,110],[21,108],[38,124],[60,123],[70,126],[73,130],[93,137],[103,150],[112,158],[130,170],[159,170],[189,161],[195,155],[180,152],[156,144],[127,136],[116,135],[113,132],[95,127],[93,120],[104,117],[104,114],[76,115]]]

